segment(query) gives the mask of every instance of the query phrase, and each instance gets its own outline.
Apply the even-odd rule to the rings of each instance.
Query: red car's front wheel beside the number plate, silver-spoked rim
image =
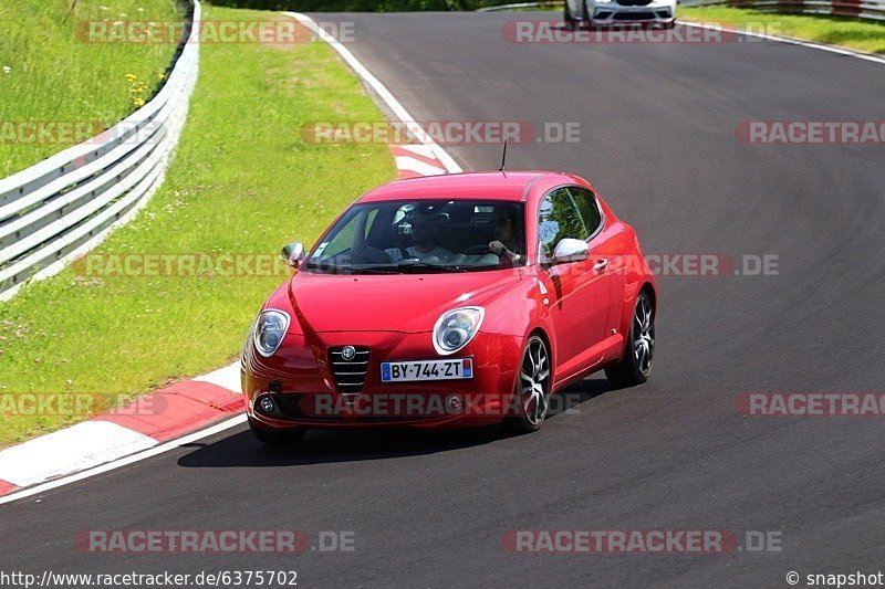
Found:
[[[530,433],[541,429],[550,408],[552,385],[550,350],[539,336],[529,337],[522,350],[513,401],[517,414],[508,418],[507,428],[514,433]]]

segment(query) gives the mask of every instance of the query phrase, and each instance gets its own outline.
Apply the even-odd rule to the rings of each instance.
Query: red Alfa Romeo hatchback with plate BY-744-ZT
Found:
[[[266,443],[317,428],[529,432],[591,372],[623,387],[652,370],[655,278],[633,228],[576,176],[398,180],[282,256],[295,274],[242,355]]]

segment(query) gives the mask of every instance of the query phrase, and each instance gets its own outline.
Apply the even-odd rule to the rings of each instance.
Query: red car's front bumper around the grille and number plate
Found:
[[[348,345],[369,349],[364,385],[356,396],[353,389],[340,390],[330,361],[330,350]],[[253,354],[247,344],[242,361],[247,413],[257,427],[268,430],[499,423],[516,411],[513,389],[521,345],[514,336],[479,333],[451,356],[472,358],[473,378],[384,383],[383,361],[439,359],[429,333],[327,333],[311,338],[287,334],[270,358]],[[262,397],[270,399],[272,410],[260,408]]]

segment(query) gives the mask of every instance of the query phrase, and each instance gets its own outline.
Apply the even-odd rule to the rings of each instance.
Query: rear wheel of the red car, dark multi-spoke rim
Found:
[[[618,387],[634,387],[648,380],[655,355],[655,312],[652,299],[644,291],[633,307],[629,336],[620,362],[605,368],[608,381]]]

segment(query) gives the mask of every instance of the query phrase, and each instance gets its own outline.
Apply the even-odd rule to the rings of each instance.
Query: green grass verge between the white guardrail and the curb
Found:
[[[206,18],[275,15],[207,7]],[[306,144],[301,126],[381,118],[324,43],[202,45],[165,185],[94,253],[275,255],[295,239],[310,244],[395,168],[384,145]],[[284,277],[85,278],[67,269],[0,304],[0,393],[131,397],[222,366]],[[0,416],[0,445],[77,419]]]

